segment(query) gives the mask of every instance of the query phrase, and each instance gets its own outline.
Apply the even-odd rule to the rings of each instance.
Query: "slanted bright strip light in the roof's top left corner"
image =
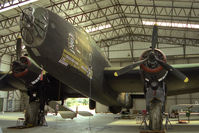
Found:
[[[38,0],[28,0],[28,1],[23,0],[21,3],[19,2],[19,0],[14,0],[13,3],[11,3],[11,4],[9,2],[7,2],[7,3],[4,4],[4,8],[0,9],[0,13],[8,11],[8,10],[16,8],[16,7],[19,7],[19,6],[27,5],[29,3],[33,3],[33,2],[36,2],[36,1],[38,1]]]

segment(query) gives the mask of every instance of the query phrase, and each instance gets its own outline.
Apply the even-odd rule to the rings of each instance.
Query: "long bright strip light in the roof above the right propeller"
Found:
[[[199,24],[190,23],[176,23],[176,22],[154,22],[154,21],[142,21],[143,25],[154,25],[165,26],[165,27],[178,27],[178,28],[191,28],[199,29]]]

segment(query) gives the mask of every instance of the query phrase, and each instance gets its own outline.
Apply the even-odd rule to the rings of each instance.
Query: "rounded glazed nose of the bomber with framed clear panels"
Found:
[[[20,18],[20,29],[25,45],[37,47],[45,39],[48,27],[48,11],[41,7],[23,9]]]

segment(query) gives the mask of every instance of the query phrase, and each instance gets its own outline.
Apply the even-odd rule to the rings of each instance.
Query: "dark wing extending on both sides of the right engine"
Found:
[[[168,73],[165,81],[168,95],[199,92],[199,64],[172,65],[189,77],[189,83],[184,83],[171,73]],[[135,68],[119,77],[114,72],[121,67],[107,67],[104,70],[106,83],[117,92],[143,92],[143,79],[139,68]]]

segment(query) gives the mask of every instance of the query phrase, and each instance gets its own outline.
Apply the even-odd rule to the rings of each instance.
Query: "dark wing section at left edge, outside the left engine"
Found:
[[[6,73],[0,72],[0,77],[4,76]],[[0,80],[0,90],[10,91],[10,90],[21,90],[26,91],[25,84],[22,80],[15,78],[11,73],[8,73]]]

